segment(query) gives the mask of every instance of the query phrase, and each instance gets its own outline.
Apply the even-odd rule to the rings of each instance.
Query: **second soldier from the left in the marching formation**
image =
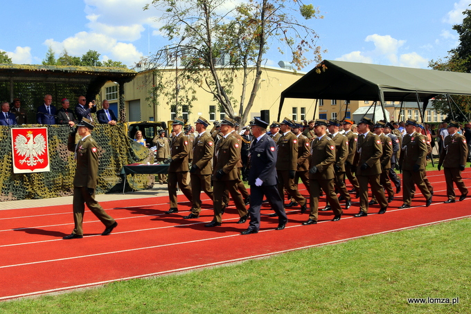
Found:
[[[209,122],[202,117],[196,121],[198,136],[193,145],[193,164],[190,169],[190,184],[193,194],[193,207],[184,219],[198,218],[201,212],[201,192],[204,191],[213,201],[213,188],[211,187],[211,174],[213,174],[214,140],[206,131]]]

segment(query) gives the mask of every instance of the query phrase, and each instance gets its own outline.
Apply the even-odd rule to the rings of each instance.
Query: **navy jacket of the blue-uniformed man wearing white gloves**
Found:
[[[265,133],[260,140],[252,142],[250,147],[249,185],[255,185],[256,178],[263,185],[276,185],[276,145],[274,140]]]

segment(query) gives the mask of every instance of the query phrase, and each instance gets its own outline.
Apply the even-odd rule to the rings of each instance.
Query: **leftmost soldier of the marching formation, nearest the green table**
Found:
[[[178,212],[177,184],[181,192],[188,198],[188,201],[193,204],[193,194],[190,185],[188,185],[188,152],[190,146],[188,138],[182,131],[183,126],[184,122],[181,118],[175,118],[172,122],[172,131],[175,132],[175,136],[170,143],[170,157],[165,161],[170,163],[167,181],[170,210],[167,210],[166,214]]]

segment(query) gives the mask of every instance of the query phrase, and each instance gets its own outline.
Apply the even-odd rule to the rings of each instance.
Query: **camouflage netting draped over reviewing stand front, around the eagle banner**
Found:
[[[15,126],[13,126],[15,127]],[[73,153],[67,150],[67,138],[71,131],[64,125],[19,125],[16,127],[47,127],[50,172],[35,174],[13,174],[12,172],[12,127],[0,126],[0,201],[18,199],[51,198],[71,195],[73,192],[73,176],[75,160]],[[130,163],[153,163],[154,153],[131,138],[127,137],[125,125],[122,123],[110,127],[98,124],[91,136],[98,143],[99,169],[97,194],[118,192],[123,190],[120,175],[123,165]],[[133,190],[152,187],[154,176],[136,174],[134,180],[128,175],[127,183]],[[130,187],[126,187],[130,190]]]

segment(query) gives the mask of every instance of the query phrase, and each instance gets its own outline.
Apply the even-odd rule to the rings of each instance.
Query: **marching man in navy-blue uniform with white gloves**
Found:
[[[255,118],[250,124],[254,142],[250,147],[250,223],[247,230],[242,234],[257,233],[260,229],[260,207],[263,196],[267,197],[270,206],[278,216],[278,227],[276,230],[283,230],[288,221],[283,199],[276,187],[276,147],[274,140],[267,135],[268,123]]]

